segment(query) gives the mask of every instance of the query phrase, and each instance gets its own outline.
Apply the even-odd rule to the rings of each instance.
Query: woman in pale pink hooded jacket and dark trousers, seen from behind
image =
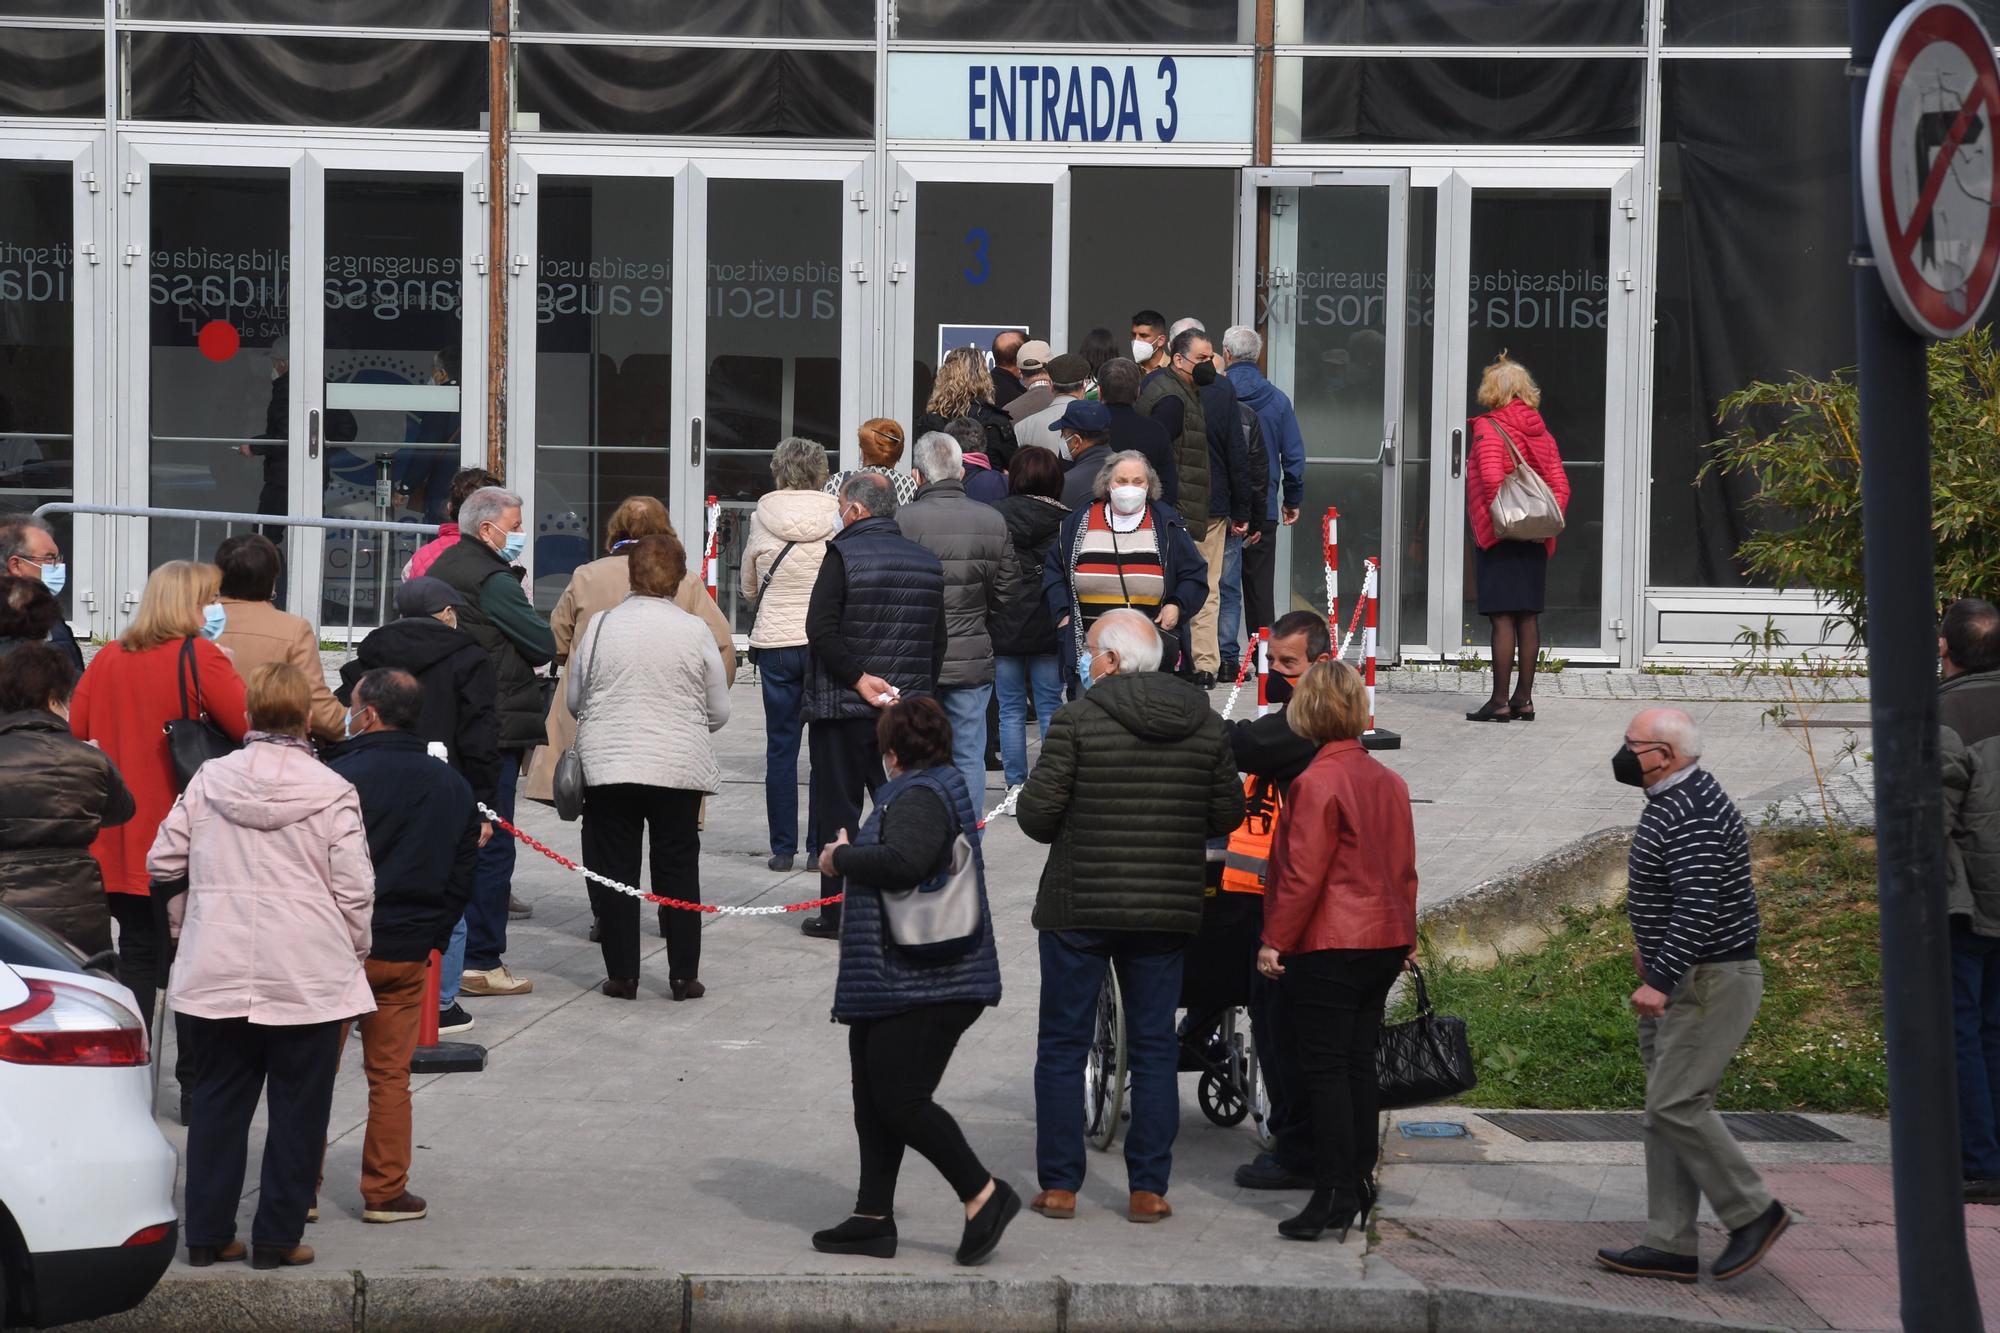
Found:
[[[320,1179],[340,1029],[374,1013],[374,865],[354,787],[312,757],[312,695],[286,662],[250,673],[244,749],[210,759],[146,859],[180,957],[168,981],[194,1037],[188,1263],[242,1259],[236,1203],[258,1099],[270,1105],[250,1261],[312,1263],[300,1245]]]

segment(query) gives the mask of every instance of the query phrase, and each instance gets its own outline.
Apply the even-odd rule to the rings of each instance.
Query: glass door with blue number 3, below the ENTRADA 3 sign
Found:
[[[1070,346],[1070,172],[1064,166],[914,162],[896,168],[890,284],[896,318],[888,402],[906,426],[924,414],[938,362],[1006,328]],[[1060,322],[1058,322],[1060,320]],[[908,416],[902,416],[908,412]]]

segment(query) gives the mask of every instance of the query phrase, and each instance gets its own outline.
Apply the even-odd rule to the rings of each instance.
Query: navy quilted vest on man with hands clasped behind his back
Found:
[[[846,572],[840,636],[868,675],[904,695],[936,695],[934,648],[944,614],[944,564],[896,528],[894,518],[864,518],[832,540]],[[436,568],[436,566],[432,566]],[[876,717],[876,709],[834,681],[812,656],[806,721]]]

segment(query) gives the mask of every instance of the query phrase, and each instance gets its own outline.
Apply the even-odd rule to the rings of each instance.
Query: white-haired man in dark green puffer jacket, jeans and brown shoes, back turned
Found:
[[[1084,1183],[1084,1059],[1104,971],[1118,969],[1132,1061],[1126,1215],[1170,1217],[1180,1127],[1174,1011],[1202,925],[1208,839],[1244,817],[1222,719],[1200,689],[1160,671],[1162,638],[1138,610],[1106,610],[1080,662],[1084,697],[1048,725],[1016,817],[1050,843],[1034,903],[1042,1027],[1034,1059],[1036,1169],[1044,1217],[1074,1217]]]

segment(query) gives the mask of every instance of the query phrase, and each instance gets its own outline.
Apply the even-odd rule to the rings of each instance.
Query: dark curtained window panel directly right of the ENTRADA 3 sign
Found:
[[[1306,60],[1308,144],[1636,144],[1640,60]]]

